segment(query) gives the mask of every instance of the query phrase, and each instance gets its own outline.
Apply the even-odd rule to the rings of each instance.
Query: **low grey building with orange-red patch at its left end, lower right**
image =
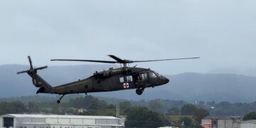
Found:
[[[241,117],[205,117],[201,121],[204,128],[240,128]]]

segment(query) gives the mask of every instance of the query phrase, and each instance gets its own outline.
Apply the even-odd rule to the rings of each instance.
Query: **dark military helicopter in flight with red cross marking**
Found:
[[[60,61],[84,61],[84,62],[94,62],[94,63],[120,63],[121,68],[110,68],[102,72],[95,72],[89,78],[83,80],[78,80],[75,82],[70,82],[64,85],[58,85],[52,87],[46,80],[43,80],[38,74],[37,70],[42,70],[47,68],[46,66],[40,68],[33,68],[30,56],[28,56],[30,69],[24,70],[20,73],[28,73],[31,76],[33,85],[39,87],[38,93],[49,93],[61,95],[57,103],[64,95],[75,94],[75,93],[85,93],[88,92],[107,92],[116,90],[129,90],[136,89],[137,95],[142,95],[146,87],[155,87],[159,85],[164,85],[169,82],[169,79],[165,78],[163,75],[156,73],[149,68],[136,68],[129,67],[129,63],[141,63],[141,62],[151,62],[151,61],[163,61],[163,60],[122,60],[114,55],[109,55],[115,61],[108,60],[72,60],[72,59],[53,59]],[[164,60],[183,60],[183,59],[194,59],[194,58],[174,58],[174,59],[164,59]]]

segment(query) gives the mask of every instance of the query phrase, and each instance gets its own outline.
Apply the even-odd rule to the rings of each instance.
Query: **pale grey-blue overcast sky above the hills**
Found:
[[[130,60],[161,74],[256,71],[255,0],[0,1],[0,65]],[[235,70],[235,71],[234,71]],[[237,71],[238,70],[238,71]],[[256,74],[256,73],[255,73]]]

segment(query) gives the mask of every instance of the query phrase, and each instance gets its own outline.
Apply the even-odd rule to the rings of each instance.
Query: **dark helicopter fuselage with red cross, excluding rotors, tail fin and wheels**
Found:
[[[146,68],[115,68],[95,73],[84,80],[70,82],[65,85],[53,87],[41,93],[54,93],[60,95],[87,92],[107,92],[115,90],[128,90],[136,88],[154,87],[164,85],[169,80],[154,71]]]

